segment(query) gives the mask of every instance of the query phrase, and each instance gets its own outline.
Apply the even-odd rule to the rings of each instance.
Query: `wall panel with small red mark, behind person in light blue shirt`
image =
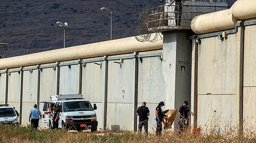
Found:
[[[24,71],[22,91],[22,125],[29,124],[28,114],[37,103],[38,70]]]

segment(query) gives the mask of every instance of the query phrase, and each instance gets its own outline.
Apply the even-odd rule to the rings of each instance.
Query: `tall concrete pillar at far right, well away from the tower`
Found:
[[[239,132],[243,133],[243,51],[244,51],[244,21],[237,21],[240,26],[236,33],[236,121]]]

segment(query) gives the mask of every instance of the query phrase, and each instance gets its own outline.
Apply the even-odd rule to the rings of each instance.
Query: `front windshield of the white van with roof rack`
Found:
[[[89,101],[73,101],[63,103],[64,112],[68,111],[92,111],[93,107]]]

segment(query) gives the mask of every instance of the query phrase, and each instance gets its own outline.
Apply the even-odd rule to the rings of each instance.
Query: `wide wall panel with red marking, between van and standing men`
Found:
[[[134,59],[125,59],[123,64],[108,61],[107,128],[133,130],[135,101]],[[125,114],[124,114],[125,113]]]

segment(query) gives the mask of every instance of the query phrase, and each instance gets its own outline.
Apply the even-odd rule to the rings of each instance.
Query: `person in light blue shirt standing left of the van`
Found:
[[[41,111],[39,109],[37,109],[37,105],[34,105],[34,109],[30,110],[29,113],[29,122],[30,122],[30,118],[31,118],[31,126],[34,129],[37,129],[38,127],[38,122],[39,122],[39,116],[40,116],[40,120],[42,119],[42,114]]]

